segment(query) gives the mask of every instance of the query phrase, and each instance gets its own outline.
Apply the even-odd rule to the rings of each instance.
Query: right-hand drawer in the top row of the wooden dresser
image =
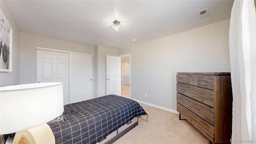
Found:
[[[214,89],[214,76],[190,75],[189,84]]]

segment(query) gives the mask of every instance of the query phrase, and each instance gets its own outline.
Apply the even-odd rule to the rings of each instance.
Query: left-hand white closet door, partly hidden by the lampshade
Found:
[[[68,53],[36,50],[36,82],[62,82],[64,104],[69,104]]]

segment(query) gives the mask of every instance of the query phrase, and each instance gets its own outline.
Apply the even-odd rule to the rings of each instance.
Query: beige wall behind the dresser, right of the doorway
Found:
[[[176,110],[176,72],[230,72],[228,33],[225,20],[119,50],[131,53],[131,98]]]

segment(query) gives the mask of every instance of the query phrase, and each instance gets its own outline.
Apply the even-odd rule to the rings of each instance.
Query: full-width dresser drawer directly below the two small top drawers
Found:
[[[212,90],[177,83],[177,92],[214,107],[214,92]]]

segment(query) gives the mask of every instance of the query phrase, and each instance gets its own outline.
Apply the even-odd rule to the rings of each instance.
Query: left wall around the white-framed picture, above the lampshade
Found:
[[[0,8],[12,27],[12,72],[0,72],[0,86],[10,86],[20,84],[20,31],[5,0],[0,0]]]

